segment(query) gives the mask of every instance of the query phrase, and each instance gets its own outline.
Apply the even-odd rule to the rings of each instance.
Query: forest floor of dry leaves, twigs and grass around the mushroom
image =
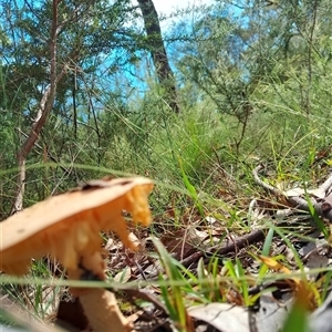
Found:
[[[114,235],[103,235],[107,284],[134,329],[318,331],[322,322],[312,312],[323,308],[332,289],[328,162],[317,157],[305,181],[295,170],[278,174],[263,164],[240,179],[220,167],[209,194],[184,176],[185,195],[169,190],[163,207],[156,206],[163,187],[156,183],[152,226],[132,228],[137,252]],[[64,276],[61,266],[35,262],[32,278],[42,269],[49,271],[49,282],[6,286],[4,293],[42,321],[89,331],[80,303],[66,288],[53,284]]]

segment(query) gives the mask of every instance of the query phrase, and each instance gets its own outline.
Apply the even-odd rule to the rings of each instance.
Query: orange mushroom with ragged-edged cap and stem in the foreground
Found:
[[[69,279],[84,279],[89,273],[105,280],[100,231],[115,231],[126,247],[136,250],[122,212],[126,210],[135,222],[148,226],[152,188],[153,183],[142,177],[92,180],[9,217],[0,222],[0,270],[21,276],[32,258],[51,255],[62,262]],[[74,293],[93,331],[132,330],[112,292],[85,288]]]

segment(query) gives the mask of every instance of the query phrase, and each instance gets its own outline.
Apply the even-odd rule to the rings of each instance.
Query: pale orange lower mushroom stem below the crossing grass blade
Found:
[[[122,314],[115,295],[105,289],[86,289],[80,301],[93,332],[129,332],[132,323]]]

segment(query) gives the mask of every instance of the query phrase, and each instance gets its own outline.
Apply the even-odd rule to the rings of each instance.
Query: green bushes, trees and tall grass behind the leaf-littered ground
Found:
[[[11,169],[51,81],[52,10],[49,2],[2,1],[1,11],[0,167]],[[239,163],[301,163],[329,146],[329,1],[216,1],[174,17],[163,41],[179,114],[158,83],[138,7],[60,2],[62,76],[27,165],[68,166],[30,168],[24,206],[100,176],[75,164],[176,185],[183,167],[195,186],[208,188],[218,167],[237,176]],[[2,219],[14,177],[2,177]]]

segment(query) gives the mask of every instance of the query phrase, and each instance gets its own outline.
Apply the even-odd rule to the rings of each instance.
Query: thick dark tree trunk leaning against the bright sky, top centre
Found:
[[[164,46],[158,13],[152,0],[137,0],[137,2],[144,19],[147,46],[156,68],[158,81],[165,90],[165,100],[175,113],[179,113],[174,74]]]

